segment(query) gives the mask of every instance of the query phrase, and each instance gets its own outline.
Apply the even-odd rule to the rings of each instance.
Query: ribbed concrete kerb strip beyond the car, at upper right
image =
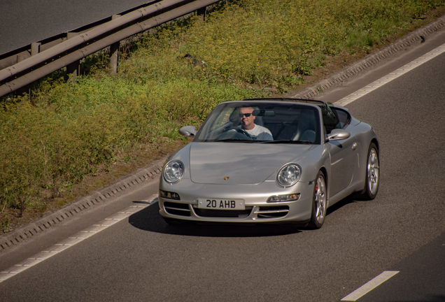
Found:
[[[327,89],[334,87],[335,85],[339,85],[341,82],[344,82],[348,78],[352,78],[354,75],[360,73],[360,71],[365,71],[365,69],[383,61],[390,55],[394,55],[396,52],[403,50],[404,48],[413,45],[414,43],[422,42],[425,40],[427,36],[435,33],[445,27],[445,15],[439,17],[434,22],[421,27],[420,29],[416,29],[415,31],[407,34],[391,45],[388,45],[386,48],[383,48],[376,52],[374,55],[369,55],[354,64],[341,69],[341,71],[334,73],[333,75],[328,76],[325,80],[320,80],[320,82],[316,82],[315,84],[307,87],[302,92],[298,92],[293,95],[292,98],[298,99],[314,99],[319,94],[325,92]]]

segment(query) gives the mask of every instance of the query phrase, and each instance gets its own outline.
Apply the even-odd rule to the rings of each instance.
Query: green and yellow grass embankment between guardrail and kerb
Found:
[[[222,1],[206,22],[144,35],[118,75],[96,56],[76,84],[55,73],[31,101],[2,99],[1,230],[87,193],[85,177],[177,148],[178,128],[199,126],[217,103],[299,87],[330,59],[366,52],[436,6],[444,1]]]

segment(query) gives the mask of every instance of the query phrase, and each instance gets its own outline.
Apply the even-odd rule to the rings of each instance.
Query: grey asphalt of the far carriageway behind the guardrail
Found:
[[[0,54],[148,2],[151,1],[1,0]]]

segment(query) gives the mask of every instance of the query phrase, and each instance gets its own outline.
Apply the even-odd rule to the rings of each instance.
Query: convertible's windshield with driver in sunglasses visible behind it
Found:
[[[195,141],[319,144],[320,110],[304,103],[221,103],[202,124]]]

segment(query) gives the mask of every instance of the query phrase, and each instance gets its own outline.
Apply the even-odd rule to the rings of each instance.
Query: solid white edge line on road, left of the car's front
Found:
[[[143,208],[150,206],[150,204],[152,204],[156,199],[157,199],[157,194],[153,194],[150,197],[150,199],[143,200],[142,203],[137,203],[137,205],[135,206],[129,206],[125,210],[115,213],[114,215],[105,218],[104,220],[98,222],[97,224],[93,224],[91,227],[84,229],[83,231],[80,231],[74,236],[71,236],[65,240],[62,240],[59,243],[56,243],[55,245],[52,245],[52,247],[49,247],[48,249],[43,250],[42,252],[39,252],[38,254],[35,254],[34,256],[29,257],[28,259],[11,266],[5,271],[1,271],[0,282],[3,282],[4,280],[13,277],[14,275],[17,275],[17,273],[22,273],[22,271],[27,270],[31,266],[35,266],[36,264],[41,263],[41,261],[46,260],[54,256],[55,254],[58,254],[59,252],[62,252],[67,248],[76,245],[77,243],[80,243],[84,239],[99,233],[99,231],[103,231],[104,229],[111,227],[113,224],[120,222],[121,220],[125,220],[130,215],[139,212]]]

